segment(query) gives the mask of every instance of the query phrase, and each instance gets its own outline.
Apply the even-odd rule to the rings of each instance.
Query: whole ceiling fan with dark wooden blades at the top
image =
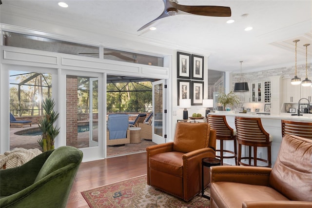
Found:
[[[187,6],[178,4],[177,0],[163,0],[163,2],[165,4],[165,8],[162,14],[155,20],[142,26],[137,31],[148,27],[156,20],[175,15],[193,14],[212,17],[231,17],[231,8],[226,6]]]

